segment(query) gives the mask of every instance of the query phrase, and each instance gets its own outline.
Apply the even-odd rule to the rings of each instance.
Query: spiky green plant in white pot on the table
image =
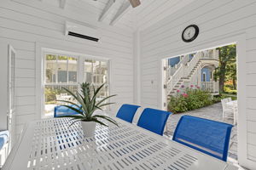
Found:
[[[102,126],[108,127],[108,125],[105,122],[102,122],[102,120],[112,122],[113,124],[118,126],[117,122],[115,122],[111,117],[95,114],[96,110],[102,111],[102,107],[113,104],[113,103],[104,103],[104,101],[106,101],[107,99],[115,95],[110,95],[104,99],[96,101],[96,98],[99,92],[101,91],[101,89],[103,88],[103,86],[104,84],[102,84],[102,86],[100,86],[99,88],[95,88],[95,86],[90,84],[89,82],[83,82],[82,84],[80,84],[80,90],[77,90],[76,93],[71,92],[67,88],[63,88],[67,91],[67,94],[70,94],[73,96],[76,102],[66,101],[66,100],[59,100],[59,101],[69,104],[64,106],[71,109],[72,111],[75,111],[77,114],[70,115],[70,116],[59,116],[59,117],[72,118],[71,120],[73,122],[70,126],[72,126],[73,123],[75,122],[81,122],[84,135],[87,137],[94,135],[96,123],[99,123]]]

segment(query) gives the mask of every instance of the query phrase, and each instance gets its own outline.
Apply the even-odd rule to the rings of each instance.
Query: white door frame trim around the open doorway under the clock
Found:
[[[180,54],[191,54],[196,51],[206,50],[209,48],[222,47],[224,45],[236,43],[236,68],[237,68],[237,99],[238,99],[238,126],[237,126],[237,154],[238,162],[244,167],[253,167],[255,162],[247,159],[247,116],[246,116],[246,34],[244,32],[229,35],[227,37],[218,37],[214,40],[206,42],[196,42],[185,44],[185,48],[180,48],[175,52],[168,54],[169,56],[177,56]],[[163,59],[166,56],[160,56],[160,93],[159,108],[164,109],[164,71]]]

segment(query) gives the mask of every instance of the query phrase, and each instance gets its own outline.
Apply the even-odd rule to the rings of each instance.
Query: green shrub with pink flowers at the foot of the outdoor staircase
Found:
[[[192,111],[212,104],[212,95],[209,92],[187,88],[183,94],[178,93],[171,97],[168,103],[168,111],[173,113]]]

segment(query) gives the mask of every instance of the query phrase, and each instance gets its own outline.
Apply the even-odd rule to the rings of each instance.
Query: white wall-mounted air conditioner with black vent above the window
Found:
[[[94,28],[88,26],[81,26],[72,22],[66,22],[66,36],[79,37],[93,42],[100,40],[100,35]]]

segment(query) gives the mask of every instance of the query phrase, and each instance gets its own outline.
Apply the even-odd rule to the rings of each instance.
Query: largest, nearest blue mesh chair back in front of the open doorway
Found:
[[[172,140],[227,161],[232,125],[195,116],[182,116]]]

